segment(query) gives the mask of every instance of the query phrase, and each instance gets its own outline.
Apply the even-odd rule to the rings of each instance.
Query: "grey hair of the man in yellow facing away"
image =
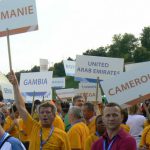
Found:
[[[69,109],[69,112],[68,112],[68,113],[69,113],[69,114],[73,114],[76,119],[81,119],[81,118],[83,118],[83,112],[82,112],[81,108],[78,107],[78,106],[72,106],[72,107]]]

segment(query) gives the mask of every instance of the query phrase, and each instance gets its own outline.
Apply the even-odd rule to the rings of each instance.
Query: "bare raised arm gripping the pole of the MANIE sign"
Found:
[[[16,104],[16,107],[19,111],[19,115],[23,120],[26,120],[28,112],[27,112],[26,107],[25,107],[24,98],[22,97],[20,89],[19,89],[19,85],[18,85],[16,75],[13,71],[11,71],[9,73],[8,79],[11,82],[11,84],[13,85],[15,104]]]

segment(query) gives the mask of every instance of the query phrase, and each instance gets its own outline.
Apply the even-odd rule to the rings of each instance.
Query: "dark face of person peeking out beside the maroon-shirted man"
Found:
[[[103,123],[102,117],[99,117],[96,120],[96,131],[98,131],[100,134],[103,134],[105,132],[105,125]]]

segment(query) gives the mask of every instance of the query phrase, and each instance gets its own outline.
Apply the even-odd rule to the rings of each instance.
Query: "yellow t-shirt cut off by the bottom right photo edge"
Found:
[[[140,141],[140,147],[147,145],[150,149],[150,125],[144,128]]]

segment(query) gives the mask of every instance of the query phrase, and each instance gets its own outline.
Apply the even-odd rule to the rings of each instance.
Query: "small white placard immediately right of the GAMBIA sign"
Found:
[[[53,88],[65,88],[65,78],[53,78],[52,79]]]

